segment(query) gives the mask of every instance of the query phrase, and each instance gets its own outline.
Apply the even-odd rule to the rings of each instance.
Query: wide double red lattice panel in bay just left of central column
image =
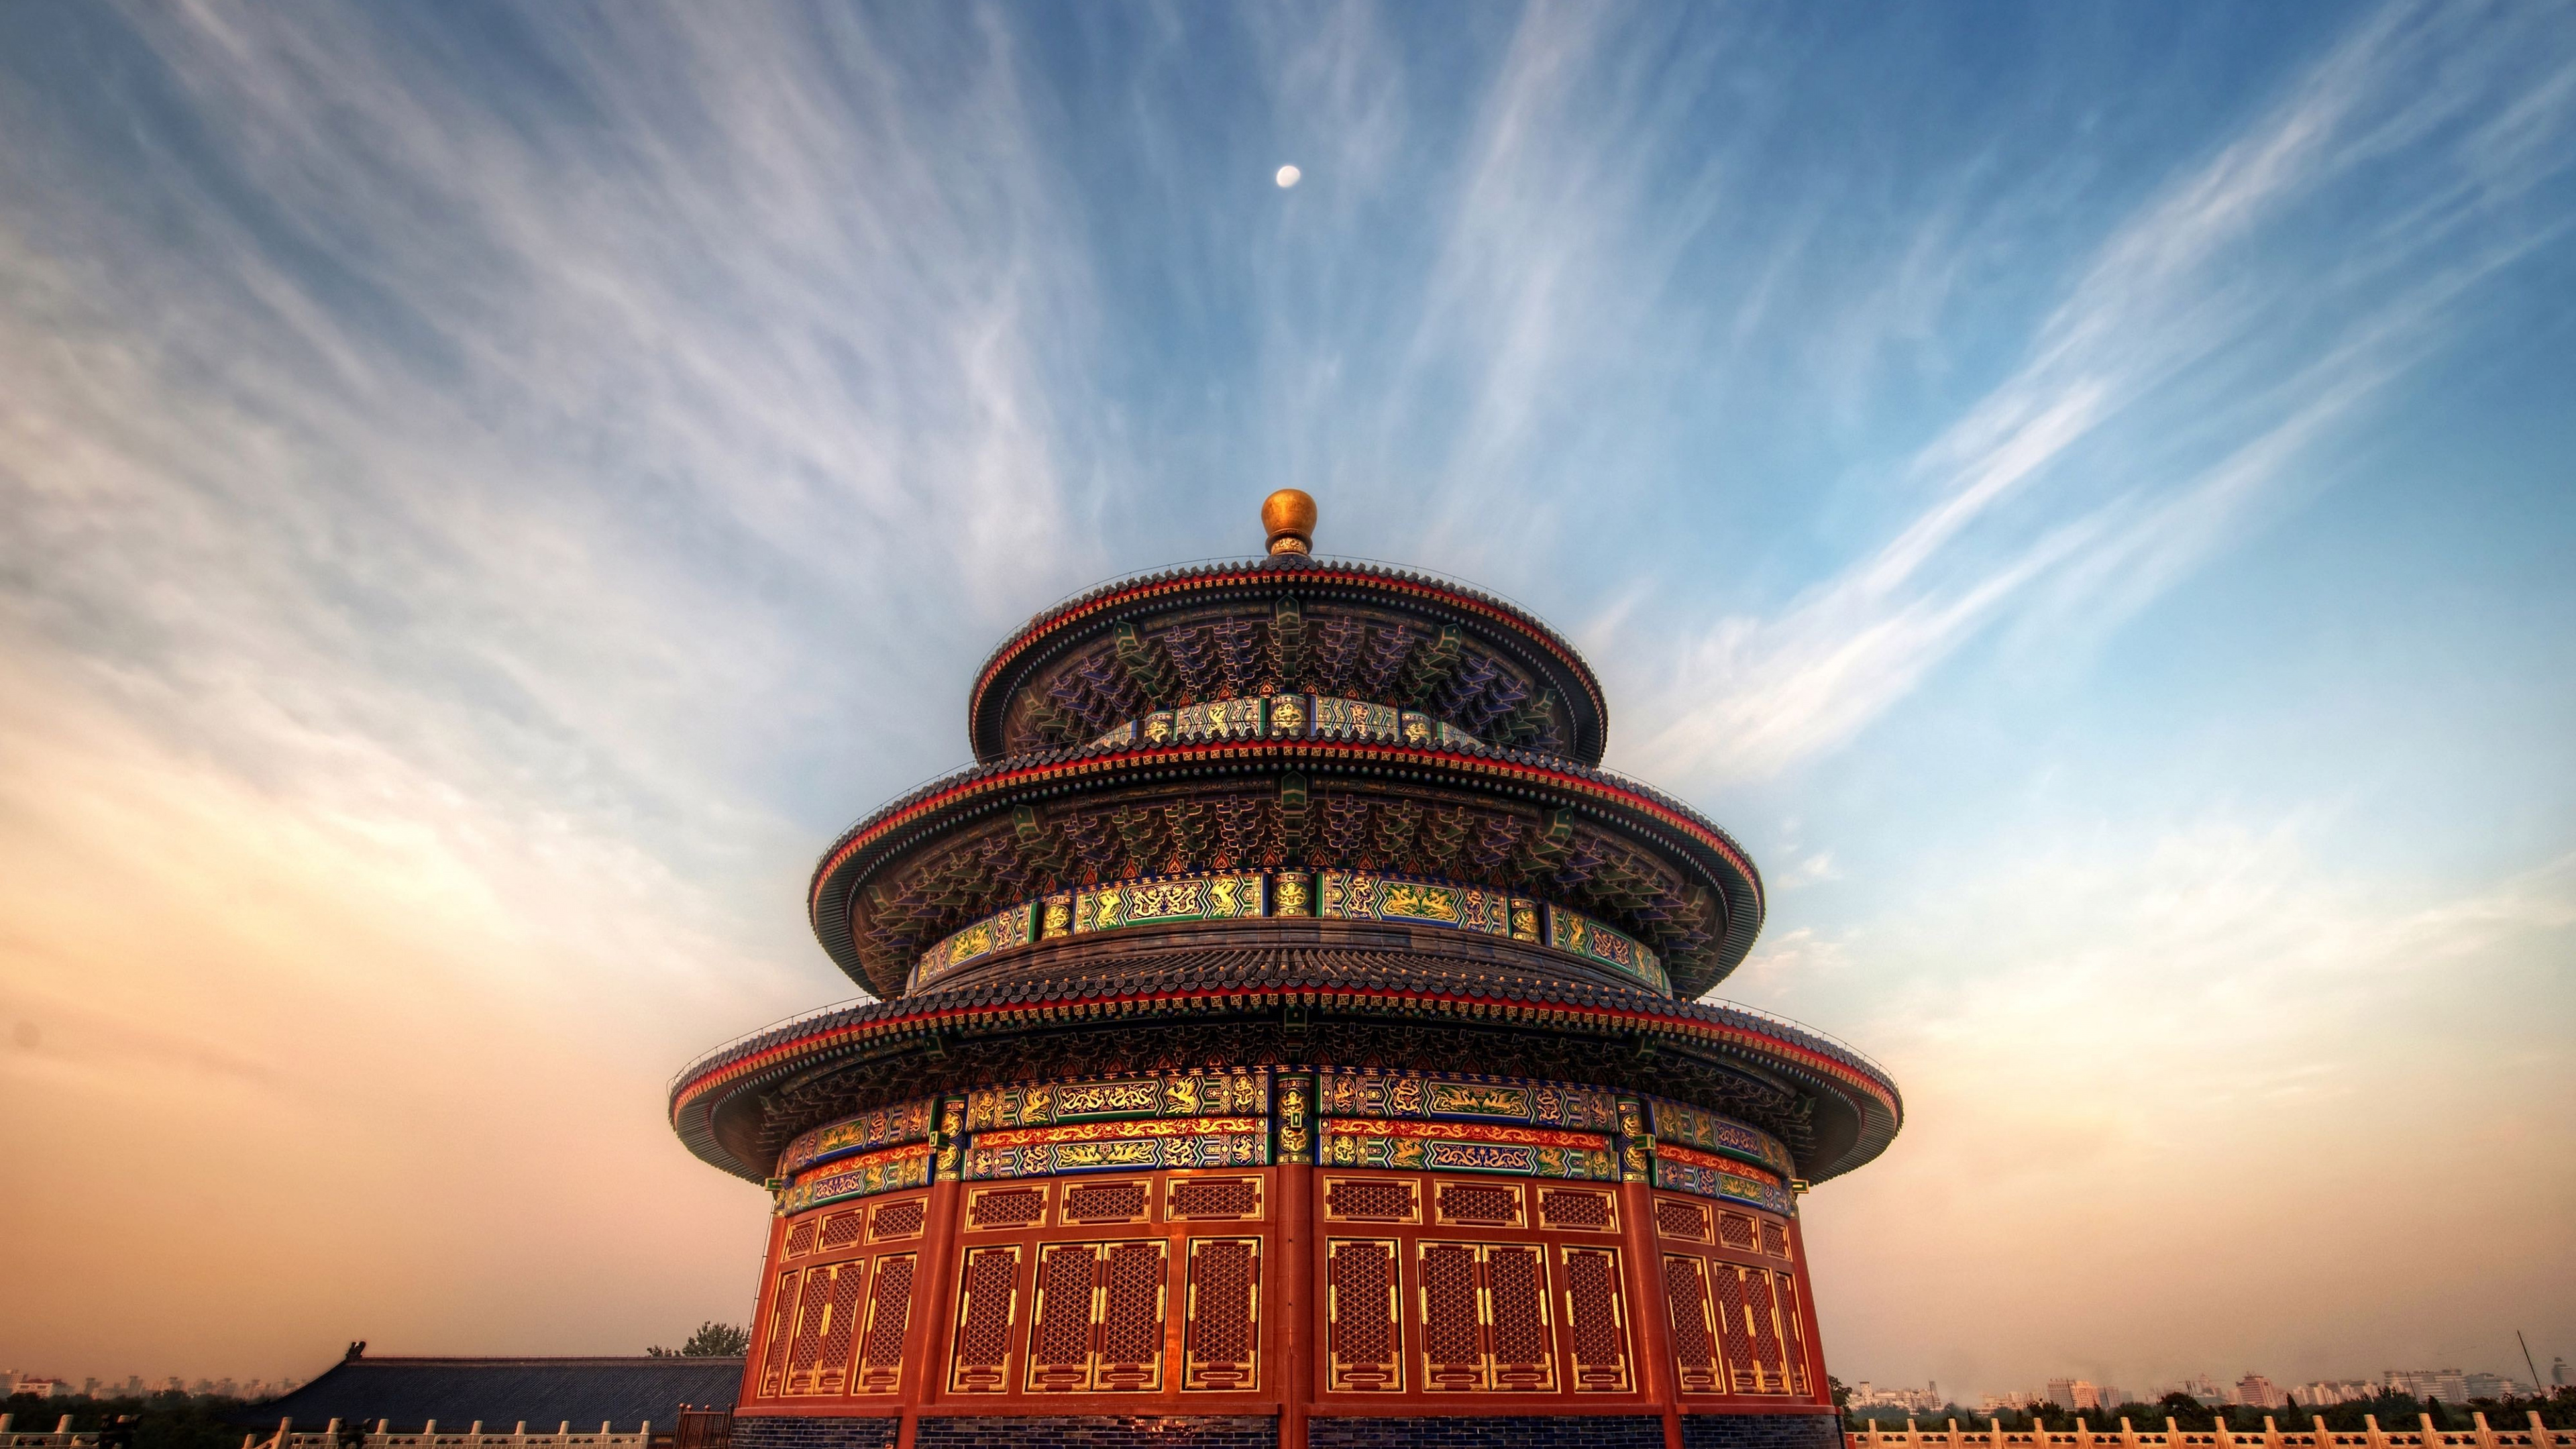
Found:
[[[1164,1243],[1048,1243],[1028,1325],[1028,1392],[1162,1390]]]

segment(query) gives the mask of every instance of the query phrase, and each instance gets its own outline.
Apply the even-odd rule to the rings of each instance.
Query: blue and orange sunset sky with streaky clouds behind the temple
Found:
[[[2576,1356],[2566,8],[21,0],[0,134],[5,1366],[739,1323],[670,1073],[1273,487],[1904,1085],[1839,1377]]]

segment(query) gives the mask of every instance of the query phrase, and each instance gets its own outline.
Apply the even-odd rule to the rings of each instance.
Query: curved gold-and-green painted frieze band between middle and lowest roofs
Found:
[[[1577,910],[1546,905],[1481,884],[1388,877],[1345,869],[1203,871],[1103,882],[997,910],[943,936],[920,954],[904,990],[981,962],[984,957],[1128,926],[1262,920],[1319,915],[1324,920],[1383,920],[1435,926],[1479,936],[1510,936],[1553,946],[1571,957],[1620,969],[1654,990],[1672,990],[1651,946]]]

